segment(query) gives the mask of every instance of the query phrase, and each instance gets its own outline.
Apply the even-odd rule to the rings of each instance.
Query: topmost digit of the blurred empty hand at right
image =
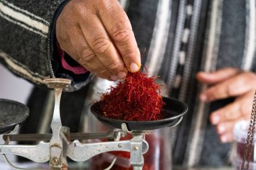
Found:
[[[235,68],[220,69],[214,73],[199,72],[197,73],[197,80],[201,83],[215,84],[221,81],[225,81],[226,79],[229,79],[238,73],[238,69]]]

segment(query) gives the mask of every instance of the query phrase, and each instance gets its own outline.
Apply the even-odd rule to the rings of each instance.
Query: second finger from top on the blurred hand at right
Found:
[[[235,97],[254,89],[255,86],[256,77],[253,73],[241,73],[203,91],[200,99],[202,101],[215,101]]]

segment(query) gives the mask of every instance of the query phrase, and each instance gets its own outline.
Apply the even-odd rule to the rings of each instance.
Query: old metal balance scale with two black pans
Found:
[[[15,167],[6,155],[19,155],[36,163],[49,161],[49,169],[68,169],[67,157],[73,161],[87,161],[100,153],[109,151],[130,152],[133,170],[142,170],[143,154],[147,153],[149,145],[145,135],[152,130],[164,127],[174,127],[179,124],[187,112],[187,104],[163,97],[166,105],[162,108],[164,119],[155,121],[123,121],[100,116],[99,103],[92,105],[91,111],[100,122],[113,126],[115,129],[107,132],[69,133],[69,128],[62,126],[59,112],[61,93],[71,85],[69,79],[45,79],[47,87],[55,89],[55,108],[51,122],[52,134],[13,134],[19,125],[28,117],[26,105],[16,101],[0,99],[0,134],[3,134],[5,144],[0,144],[0,155],[13,169]],[[131,140],[120,140],[124,134],[131,134]],[[108,142],[81,143],[79,140],[108,138]],[[38,144],[9,144],[9,141],[38,141]],[[45,142],[49,141],[49,142]],[[107,169],[113,167],[115,160]]]

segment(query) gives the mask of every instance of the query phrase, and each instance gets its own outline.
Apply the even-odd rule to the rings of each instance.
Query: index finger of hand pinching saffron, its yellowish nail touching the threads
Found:
[[[129,19],[119,2],[116,0],[102,1],[98,12],[127,69],[131,73],[139,71],[141,61],[137,42]]]

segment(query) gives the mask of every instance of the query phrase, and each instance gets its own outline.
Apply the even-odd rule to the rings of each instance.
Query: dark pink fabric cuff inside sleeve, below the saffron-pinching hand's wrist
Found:
[[[62,65],[63,69],[71,71],[71,72],[75,73],[76,75],[81,75],[81,74],[84,74],[87,72],[87,70],[84,67],[82,67],[82,65],[79,65],[79,64],[77,64],[77,66],[69,65],[69,63],[67,63],[67,61],[64,58],[65,52],[61,49],[59,44],[57,44],[57,48],[58,48],[58,53],[61,56],[61,65]]]

